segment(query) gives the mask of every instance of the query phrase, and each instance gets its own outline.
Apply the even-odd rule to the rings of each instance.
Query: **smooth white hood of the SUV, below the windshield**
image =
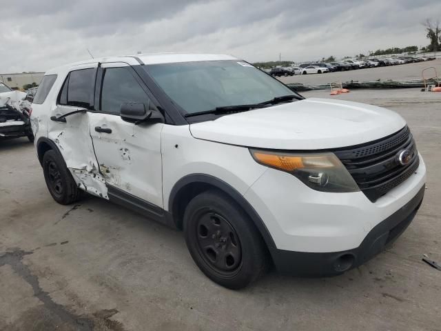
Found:
[[[193,137],[254,148],[320,150],[367,143],[406,125],[391,110],[311,98],[190,125]]]

